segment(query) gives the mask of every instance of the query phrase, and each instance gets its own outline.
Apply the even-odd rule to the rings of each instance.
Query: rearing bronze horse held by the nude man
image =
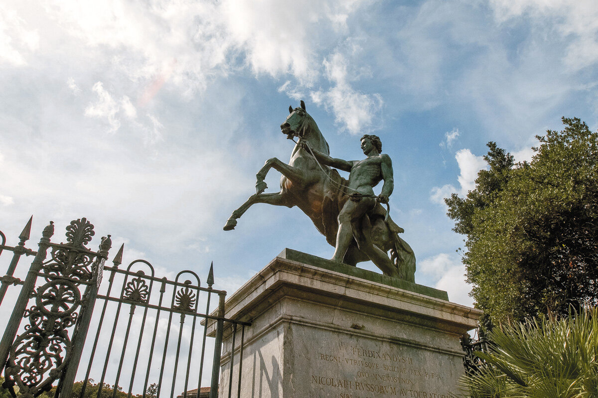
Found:
[[[306,112],[305,103],[301,101],[301,107],[292,109],[289,106],[289,115],[286,121],[280,125],[283,134],[292,139],[298,137],[313,148],[324,154],[329,154],[328,143],[322,136],[318,125]],[[276,169],[281,174],[280,192],[275,194],[264,194],[267,185],[264,182],[266,174],[270,169]],[[277,158],[266,161],[264,167],[256,174],[256,194],[242,204],[239,209],[234,210],[224,226],[225,231],[234,229],[237,225],[237,218],[240,218],[249,207],[256,203],[267,203],[275,206],[293,207],[298,206],[301,211],[312,219],[313,224],[319,232],[326,237],[332,246],[335,246],[338,231],[338,213],[344,203],[349,200],[346,186],[347,181],[338,174],[337,170],[328,166],[318,164],[316,159],[306,149],[295,145],[291,154],[289,164],[283,163]],[[392,219],[386,218],[386,210],[380,203],[368,213],[368,231],[366,233],[371,241],[380,247],[384,252],[390,251],[390,258],[395,265],[399,277],[413,282],[415,274],[415,256],[411,247],[399,237],[398,233],[403,229],[397,226]],[[343,258],[344,264],[355,266],[358,262],[368,261],[365,253],[359,250],[358,244],[353,240],[346,255]]]

